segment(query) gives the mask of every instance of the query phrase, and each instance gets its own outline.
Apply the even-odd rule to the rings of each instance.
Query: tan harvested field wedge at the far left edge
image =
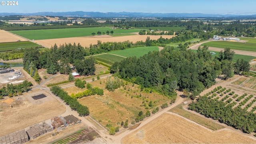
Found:
[[[17,40],[27,41],[25,38],[22,38],[16,34],[12,34],[5,30],[0,30],[0,42],[16,42]]]

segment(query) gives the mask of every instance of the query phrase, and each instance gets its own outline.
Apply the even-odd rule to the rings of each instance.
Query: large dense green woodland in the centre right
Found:
[[[234,53],[230,48],[220,52],[223,59],[213,59],[207,46],[199,47],[197,53],[186,48],[186,44],[181,44],[178,50],[166,47],[140,58],[129,57],[114,64],[110,70],[118,72],[120,78],[139,84],[142,88],[154,88],[173,100],[176,98],[175,90],[185,91],[193,99],[215,84],[218,75],[224,74],[226,79],[234,74]]]

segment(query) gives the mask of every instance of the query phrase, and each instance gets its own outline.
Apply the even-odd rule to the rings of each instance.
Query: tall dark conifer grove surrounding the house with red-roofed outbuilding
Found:
[[[80,44],[55,44],[50,50],[40,51],[38,48],[26,48],[23,57],[24,69],[30,72],[31,68],[37,70],[46,68],[48,74],[70,74],[70,64],[76,66],[76,71],[83,76],[94,75],[94,59],[84,58],[89,51]]]

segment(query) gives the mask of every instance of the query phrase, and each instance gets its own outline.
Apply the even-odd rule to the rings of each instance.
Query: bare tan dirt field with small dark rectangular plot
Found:
[[[39,94],[45,94],[47,97],[38,100],[32,98]],[[9,107],[10,104],[0,102],[0,136],[48,120],[66,111],[65,106],[47,91],[32,90],[12,99],[13,108]]]

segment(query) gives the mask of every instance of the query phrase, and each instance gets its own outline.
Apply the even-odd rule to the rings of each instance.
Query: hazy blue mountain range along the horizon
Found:
[[[255,16],[256,14],[238,15],[238,14],[202,14],[202,13],[144,13],[144,12],[36,12],[36,13],[4,13],[0,16],[66,16],[66,17],[184,17],[184,18],[198,18],[198,17],[238,17],[238,16]]]

